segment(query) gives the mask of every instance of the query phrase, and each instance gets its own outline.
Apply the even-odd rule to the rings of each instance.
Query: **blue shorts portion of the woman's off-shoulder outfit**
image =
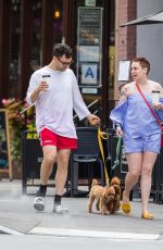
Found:
[[[124,135],[123,143],[125,153],[147,151],[159,153],[161,148],[161,134],[140,136],[137,138]]]

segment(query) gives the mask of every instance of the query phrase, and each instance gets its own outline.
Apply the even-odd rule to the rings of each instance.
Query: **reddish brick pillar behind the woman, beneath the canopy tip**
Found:
[[[137,18],[137,0],[116,0],[115,18],[115,82],[114,99],[117,100],[118,89],[124,82],[118,82],[118,63],[136,57],[136,26],[120,27],[120,25]]]

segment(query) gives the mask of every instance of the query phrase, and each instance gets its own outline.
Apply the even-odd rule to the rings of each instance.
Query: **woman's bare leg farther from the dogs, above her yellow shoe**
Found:
[[[141,199],[142,199],[142,213],[148,211],[148,201],[151,191],[151,176],[153,165],[155,163],[158,153],[145,152],[141,168]]]

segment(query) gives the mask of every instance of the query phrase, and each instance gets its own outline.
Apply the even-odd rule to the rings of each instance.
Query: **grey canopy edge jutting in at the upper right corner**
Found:
[[[163,23],[163,11],[133,20],[130,22],[127,22],[125,24],[122,24],[120,27],[130,26],[130,25],[143,25],[143,24],[159,24]]]

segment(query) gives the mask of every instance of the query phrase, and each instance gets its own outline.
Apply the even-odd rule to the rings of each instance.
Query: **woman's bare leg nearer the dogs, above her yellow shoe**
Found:
[[[142,153],[127,153],[128,173],[125,178],[125,190],[123,195],[123,202],[129,201],[129,193],[133,187],[138,183],[141,173]]]

